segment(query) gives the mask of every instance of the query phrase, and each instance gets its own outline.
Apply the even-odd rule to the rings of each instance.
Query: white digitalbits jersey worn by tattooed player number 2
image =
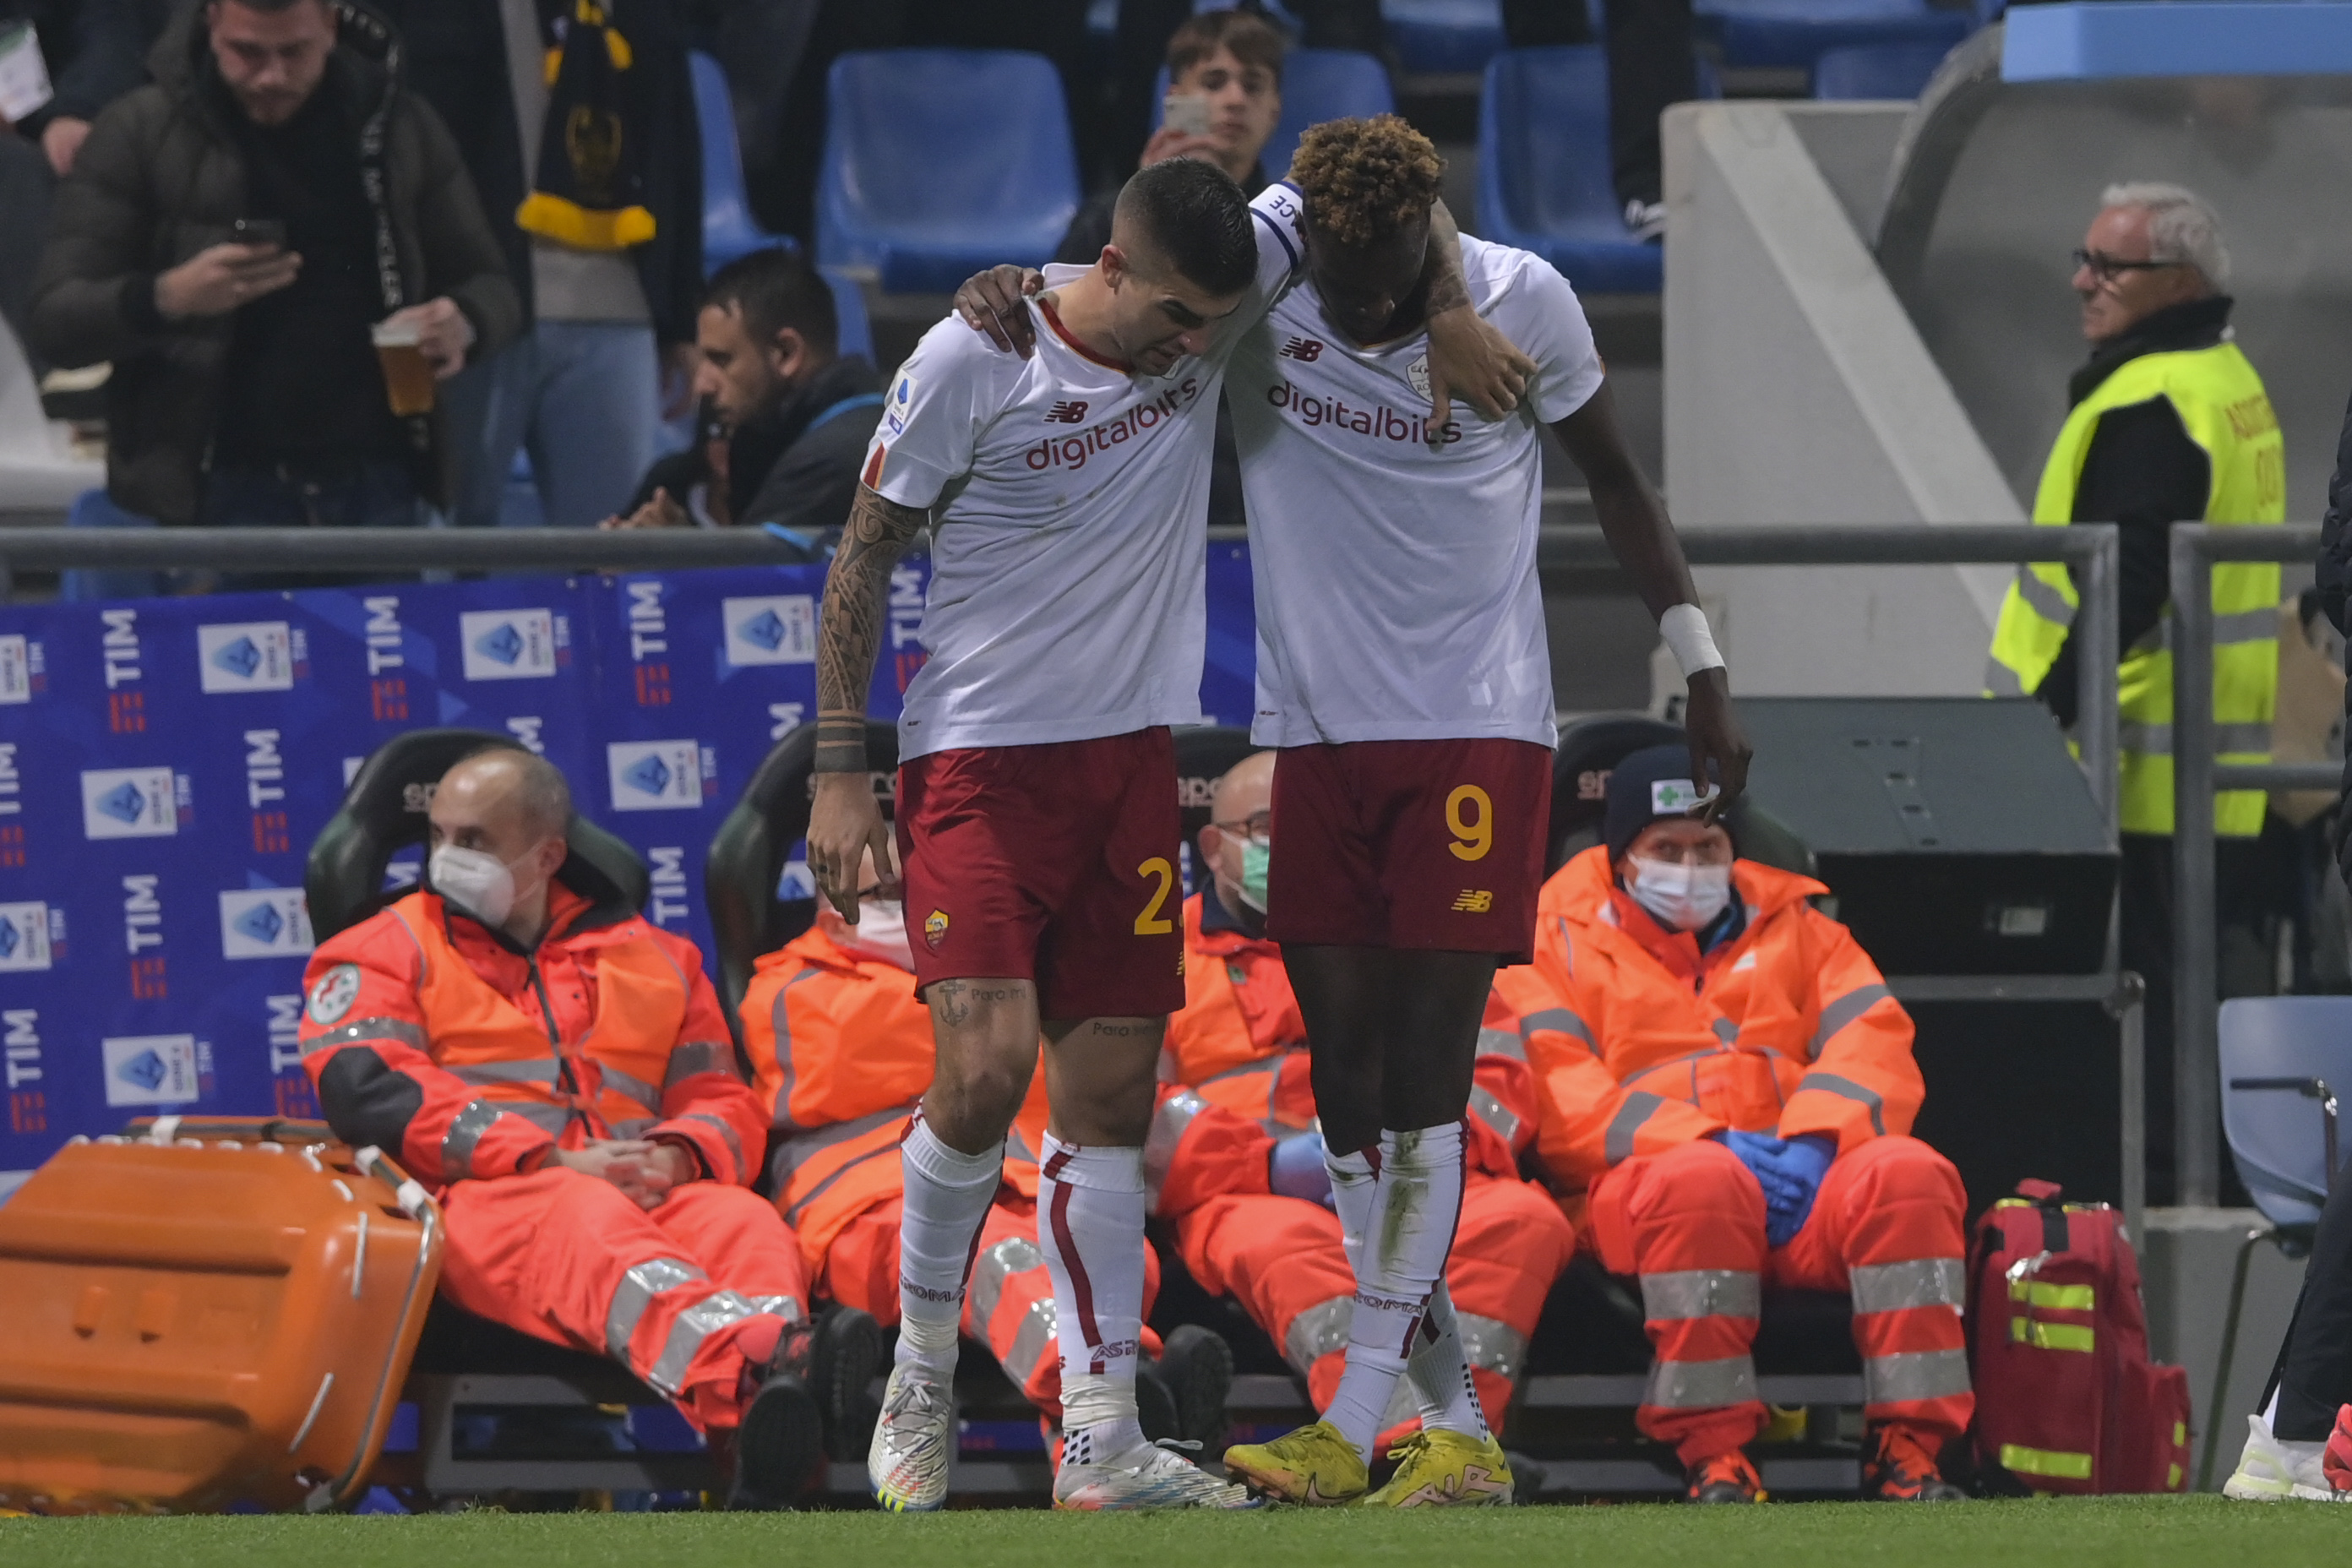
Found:
[[[1030,360],[950,315],[898,367],[863,480],[934,508],[929,663],[898,717],[901,759],[1200,724],[1216,397],[1298,270],[1296,190],[1268,186],[1251,209],[1256,287],[1207,355],[1164,376],[1096,357],[1042,299]]]

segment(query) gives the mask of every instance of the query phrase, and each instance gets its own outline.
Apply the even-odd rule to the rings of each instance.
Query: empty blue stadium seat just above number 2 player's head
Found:
[[[875,268],[887,294],[920,294],[1054,256],[1077,212],[1077,153],[1042,54],[842,54],[826,96],[823,266]]]

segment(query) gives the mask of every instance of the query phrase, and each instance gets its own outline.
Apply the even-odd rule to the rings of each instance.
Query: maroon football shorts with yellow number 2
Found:
[[[1037,983],[1037,1016],[1183,1006],[1169,731],[931,752],[898,769],[915,985]]]

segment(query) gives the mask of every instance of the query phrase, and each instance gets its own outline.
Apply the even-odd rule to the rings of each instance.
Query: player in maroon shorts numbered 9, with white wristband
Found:
[[[1324,1418],[1225,1453],[1228,1472],[1287,1502],[1510,1500],[1444,1267],[1479,1020],[1498,961],[1534,950],[1543,884],[1557,731],[1538,423],[1583,470],[1689,679],[1691,778],[1715,785],[1698,811],[1712,820],[1748,776],[1724,661],[1576,292],[1543,259],[1439,223],[1442,169],[1395,115],[1308,129],[1287,181],[1305,277],[1228,371],[1256,574],[1251,738],[1277,750],[1265,933],[1305,1018],[1357,1279]],[[1531,355],[1517,407],[1442,397],[1437,254],[1468,306]],[[1000,317],[1028,287],[1000,268],[967,292]],[[1421,1434],[1371,1490],[1406,1371]]]

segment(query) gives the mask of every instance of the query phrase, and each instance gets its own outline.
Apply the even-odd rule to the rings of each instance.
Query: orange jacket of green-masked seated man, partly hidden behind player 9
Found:
[[[1209,924],[1207,898],[1192,893],[1183,905],[1185,1001],[1169,1018],[1160,1077],[1249,1117],[1275,1138],[1305,1131],[1315,1126],[1315,1084],[1282,947]],[[1536,1086],[1517,1018],[1505,1013],[1489,999],[1470,1088],[1468,1157],[1472,1171],[1517,1180],[1519,1152],[1536,1135]],[[1164,1098],[1160,1114],[1171,1114]]]

